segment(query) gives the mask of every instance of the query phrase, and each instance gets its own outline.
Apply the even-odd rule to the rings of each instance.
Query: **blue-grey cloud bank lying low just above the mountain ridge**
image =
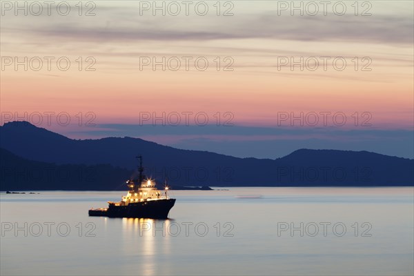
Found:
[[[299,148],[368,150],[414,158],[412,130],[102,124],[69,137],[139,137],[166,146],[275,159]],[[241,150],[242,149],[242,150]]]

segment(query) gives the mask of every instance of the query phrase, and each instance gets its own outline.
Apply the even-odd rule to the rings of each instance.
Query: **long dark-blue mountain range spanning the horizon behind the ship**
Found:
[[[46,170],[48,166],[55,166],[55,170],[60,166],[72,166],[75,171],[96,170],[95,179],[99,181],[78,183],[84,185],[81,190],[117,189],[137,167],[137,155],[144,157],[148,177],[159,182],[168,178],[168,181],[181,186],[414,184],[413,159],[366,151],[301,149],[278,159],[237,158],[214,152],[180,150],[131,137],[69,139],[25,121],[0,126],[0,147],[4,149],[1,150],[2,170],[10,164],[16,172],[22,166],[39,170]],[[106,177],[101,178],[101,172]],[[10,178],[9,173],[9,178],[3,179],[12,181],[13,177]],[[76,189],[79,188],[72,190]]]

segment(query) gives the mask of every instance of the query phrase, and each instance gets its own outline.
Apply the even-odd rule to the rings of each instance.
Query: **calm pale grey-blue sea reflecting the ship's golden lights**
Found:
[[[88,217],[123,194],[1,193],[0,274],[414,274],[412,187],[177,190],[168,220]]]

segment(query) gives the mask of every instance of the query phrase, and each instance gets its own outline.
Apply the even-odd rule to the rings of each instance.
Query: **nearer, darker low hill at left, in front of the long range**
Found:
[[[56,165],[0,148],[0,190],[126,190],[131,171],[101,165]]]

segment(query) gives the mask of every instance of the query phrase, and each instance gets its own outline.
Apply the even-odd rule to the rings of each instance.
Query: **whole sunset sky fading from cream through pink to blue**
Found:
[[[413,2],[324,3],[1,1],[0,123],[237,157],[414,158]]]

